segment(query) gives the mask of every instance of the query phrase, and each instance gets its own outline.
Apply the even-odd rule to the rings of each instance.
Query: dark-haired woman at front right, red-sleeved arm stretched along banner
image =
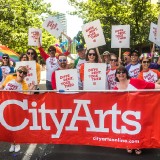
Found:
[[[120,66],[116,69],[115,80],[117,86],[115,90],[127,90],[136,91],[138,89],[160,89],[160,85],[152,82],[146,82],[141,79],[130,78],[128,70],[124,66]],[[128,153],[133,153],[133,149],[127,149]],[[135,154],[140,155],[141,149],[135,149]]]

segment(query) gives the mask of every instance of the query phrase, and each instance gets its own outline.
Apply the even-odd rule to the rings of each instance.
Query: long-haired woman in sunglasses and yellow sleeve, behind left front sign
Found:
[[[27,56],[29,61],[35,61],[36,62],[36,74],[37,74],[37,85],[35,86],[36,90],[39,90],[39,83],[41,79],[41,66],[38,63],[38,55],[35,49],[29,48],[27,50]],[[39,92],[35,92],[35,94],[38,94]]]

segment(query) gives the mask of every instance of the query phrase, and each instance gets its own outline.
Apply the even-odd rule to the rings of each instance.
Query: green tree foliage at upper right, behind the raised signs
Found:
[[[107,46],[110,48],[111,26],[131,26],[131,47],[149,44],[150,23],[157,23],[159,6],[147,0],[68,0],[84,23],[100,19]]]

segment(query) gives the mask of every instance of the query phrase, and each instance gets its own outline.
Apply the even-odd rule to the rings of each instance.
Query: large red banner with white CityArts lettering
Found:
[[[159,148],[158,92],[0,92],[0,141]]]

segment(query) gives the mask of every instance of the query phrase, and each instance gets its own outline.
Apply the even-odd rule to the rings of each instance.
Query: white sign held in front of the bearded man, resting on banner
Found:
[[[57,70],[55,75],[57,90],[78,90],[77,69]]]

